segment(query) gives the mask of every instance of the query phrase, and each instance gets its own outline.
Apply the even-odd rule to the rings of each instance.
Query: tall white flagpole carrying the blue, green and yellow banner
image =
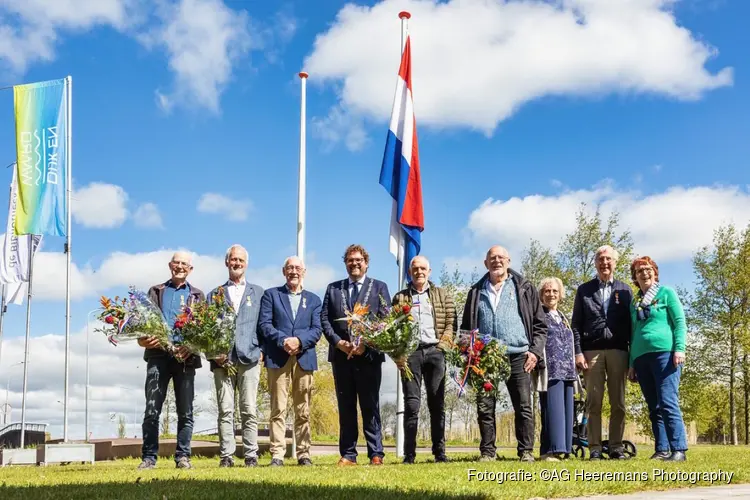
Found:
[[[67,157],[67,172],[65,173],[65,205],[67,207],[67,223],[65,231],[65,394],[63,396],[63,442],[68,442],[68,383],[70,376],[70,232],[71,207],[70,194],[72,186],[73,166],[73,77],[65,78],[66,102],[68,104],[65,124],[65,154]],[[31,301],[31,271],[29,271],[29,301]],[[25,369],[25,368],[24,368]]]

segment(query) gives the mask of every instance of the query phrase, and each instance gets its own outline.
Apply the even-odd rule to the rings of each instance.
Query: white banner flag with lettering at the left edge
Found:
[[[8,303],[21,305],[26,293],[26,283],[29,281],[29,252],[36,252],[42,241],[40,235],[16,236],[13,228],[15,220],[16,200],[18,199],[18,185],[16,169],[13,169],[13,182],[10,185],[10,201],[8,203],[8,223],[5,227],[5,240],[0,248],[0,281],[6,283],[5,297]]]

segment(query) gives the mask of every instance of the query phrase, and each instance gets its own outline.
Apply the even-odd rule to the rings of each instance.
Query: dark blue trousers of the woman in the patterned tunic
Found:
[[[547,392],[539,393],[542,433],[540,455],[573,452],[572,380],[549,380]]]

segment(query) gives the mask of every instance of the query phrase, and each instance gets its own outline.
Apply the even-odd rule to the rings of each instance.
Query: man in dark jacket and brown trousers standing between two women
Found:
[[[602,400],[607,384],[609,458],[626,459],[622,435],[625,432],[625,378],[630,345],[630,301],[633,292],[614,279],[619,255],[609,245],[597,249],[597,277],[578,287],[571,327],[576,365],[586,381],[587,432],[591,460],[602,458]]]

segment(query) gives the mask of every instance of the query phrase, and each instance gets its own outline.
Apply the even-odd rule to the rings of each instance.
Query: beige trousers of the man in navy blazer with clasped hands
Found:
[[[300,368],[296,356],[290,356],[283,368],[268,368],[271,392],[271,456],[279,460],[286,454],[286,408],[289,390],[294,403],[294,437],[297,460],[310,458],[310,396],[313,372]]]

